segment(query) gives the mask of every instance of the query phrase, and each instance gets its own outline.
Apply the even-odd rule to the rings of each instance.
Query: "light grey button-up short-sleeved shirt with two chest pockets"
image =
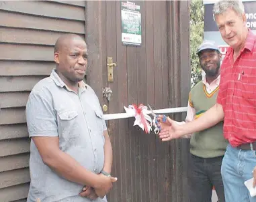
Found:
[[[58,136],[60,150],[85,169],[99,173],[104,164],[105,121],[99,100],[90,86],[79,83],[79,94],[69,90],[53,70],[34,86],[26,106],[28,132],[32,136]],[[45,165],[38,149],[30,145],[30,191],[28,201],[83,201],[83,186],[57,175]],[[97,202],[106,199],[96,199]]]

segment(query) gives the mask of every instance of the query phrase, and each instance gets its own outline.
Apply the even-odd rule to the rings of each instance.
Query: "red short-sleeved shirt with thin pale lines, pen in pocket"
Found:
[[[228,48],[222,61],[217,103],[224,110],[224,137],[232,146],[256,141],[256,36],[249,30],[245,47],[233,62]]]

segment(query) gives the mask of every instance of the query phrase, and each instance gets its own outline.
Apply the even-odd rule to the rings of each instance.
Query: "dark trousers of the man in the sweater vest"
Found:
[[[211,202],[212,188],[215,187],[218,201],[224,202],[224,187],[220,174],[223,157],[200,158],[190,156],[189,199],[191,202]]]

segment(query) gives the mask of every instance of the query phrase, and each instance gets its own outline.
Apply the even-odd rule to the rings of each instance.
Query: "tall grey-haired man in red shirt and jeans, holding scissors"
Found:
[[[223,133],[229,141],[221,169],[226,202],[256,202],[244,184],[254,177],[256,185],[256,37],[246,26],[241,1],[218,1],[213,13],[230,46],[221,66],[217,104],[183,126],[168,118],[161,122],[159,137],[179,138],[224,120]]]

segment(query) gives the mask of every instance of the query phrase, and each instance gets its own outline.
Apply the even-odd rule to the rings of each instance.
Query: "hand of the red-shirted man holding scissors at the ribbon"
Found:
[[[163,122],[161,116],[159,116],[158,120],[158,126],[161,128],[159,132],[159,138],[161,138],[163,142],[180,137],[179,130],[181,126],[177,124],[174,120],[171,120],[171,118],[167,117],[167,120]]]

